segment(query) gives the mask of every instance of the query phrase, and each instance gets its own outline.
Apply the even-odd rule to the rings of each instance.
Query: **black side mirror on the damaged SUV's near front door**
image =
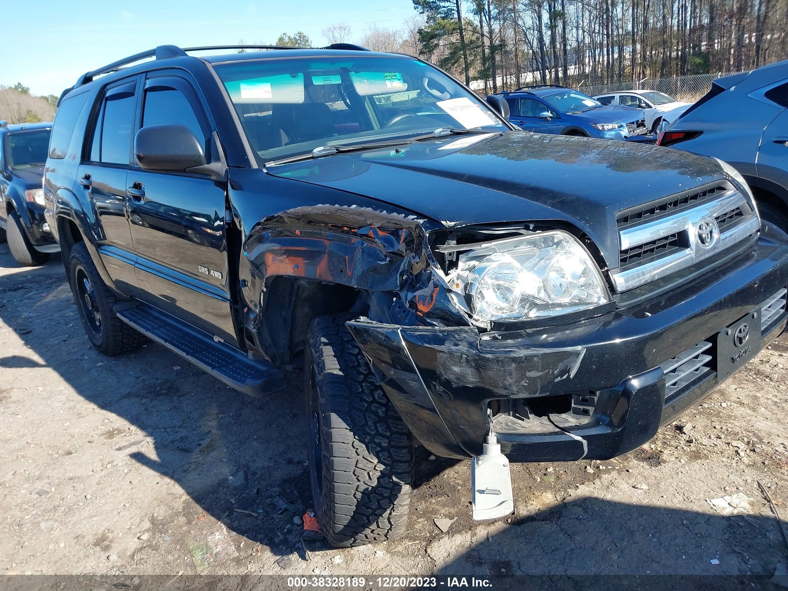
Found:
[[[145,170],[183,173],[205,165],[205,151],[191,129],[180,123],[143,127],[134,137],[134,155]]]

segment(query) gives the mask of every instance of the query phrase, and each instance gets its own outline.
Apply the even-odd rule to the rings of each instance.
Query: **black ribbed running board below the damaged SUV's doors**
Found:
[[[252,361],[243,351],[144,303],[119,303],[114,312],[149,339],[249,396],[261,396],[282,383],[281,371],[270,363]]]

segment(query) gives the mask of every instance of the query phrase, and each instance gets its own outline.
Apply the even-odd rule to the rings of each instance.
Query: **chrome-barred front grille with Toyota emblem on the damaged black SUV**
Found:
[[[701,261],[711,265],[715,255],[735,250],[760,228],[752,204],[727,180],[624,210],[616,224],[619,268],[611,278],[619,293]]]

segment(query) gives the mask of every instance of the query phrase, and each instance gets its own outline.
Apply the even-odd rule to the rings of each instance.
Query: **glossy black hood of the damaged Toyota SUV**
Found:
[[[723,176],[709,158],[608,139],[506,132],[266,169],[431,217],[447,226],[568,222],[619,261],[615,214]]]

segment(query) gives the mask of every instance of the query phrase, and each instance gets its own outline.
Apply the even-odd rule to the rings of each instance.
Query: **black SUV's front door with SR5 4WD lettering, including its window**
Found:
[[[178,123],[212,147],[207,111],[195,87],[176,72],[151,72],[144,84],[140,127]],[[232,320],[225,234],[225,187],[188,173],[128,173],[129,220],[140,299],[237,344]]]

